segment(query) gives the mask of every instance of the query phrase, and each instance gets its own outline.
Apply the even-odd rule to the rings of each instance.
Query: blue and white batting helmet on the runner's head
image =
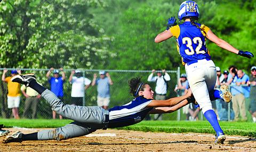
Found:
[[[180,9],[178,13],[179,19],[182,20],[185,17],[195,17],[199,18],[199,8],[194,1],[185,1],[180,4]]]

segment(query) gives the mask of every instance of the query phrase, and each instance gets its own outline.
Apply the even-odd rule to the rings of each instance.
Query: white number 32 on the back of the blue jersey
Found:
[[[189,37],[182,38],[182,43],[186,44],[187,47],[189,48],[189,49],[185,49],[185,53],[187,55],[195,54],[195,50],[192,47],[192,41]],[[196,47],[196,54],[205,54],[205,50],[200,50],[202,48],[202,45],[203,45],[203,42],[202,42],[201,38],[199,38],[199,37],[193,38],[193,43],[194,44],[198,43],[197,47]]]

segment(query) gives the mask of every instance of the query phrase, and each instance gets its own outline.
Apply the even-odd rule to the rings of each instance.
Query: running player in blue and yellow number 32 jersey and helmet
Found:
[[[161,43],[171,37],[176,38],[178,52],[181,55],[183,65],[185,65],[191,91],[202,109],[205,118],[210,122],[216,132],[215,142],[223,143],[226,137],[220,128],[209,98],[209,92],[211,93],[214,88],[217,73],[210,53],[206,48],[206,38],[219,47],[235,54],[247,58],[254,56],[250,52],[243,52],[234,48],[225,40],[215,36],[210,28],[196,23],[195,20],[197,21],[199,18],[199,9],[194,1],[181,3],[178,16],[179,20],[183,20],[184,22],[177,25],[175,17],[169,19],[167,29],[156,36],[155,43]],[[216,94],[217,92],[214,93]],[[226,85],[221,86],[221,95],[225,102],[230,102],[231,94]]]

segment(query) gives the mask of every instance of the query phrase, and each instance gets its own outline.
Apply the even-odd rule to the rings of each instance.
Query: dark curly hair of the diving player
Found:
[[[139,96],[139,91],[144,91],[145,85],[146,83],[142,83],[141,78],[132,78],[131,80],[129,80],[129,87],[130,87],[130,93],[134,96],[134,97],[138,97]]]

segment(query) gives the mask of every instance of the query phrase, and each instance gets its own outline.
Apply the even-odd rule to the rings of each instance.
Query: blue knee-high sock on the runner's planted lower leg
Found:
[[[210,122],[212,125],[213,129],[215,130],[216,133],[223,133],[222,129],[220,128],[219,122],[217,120],[217,115],[213,110],[208,110],[204,113],[205,118],[207,121]]]

